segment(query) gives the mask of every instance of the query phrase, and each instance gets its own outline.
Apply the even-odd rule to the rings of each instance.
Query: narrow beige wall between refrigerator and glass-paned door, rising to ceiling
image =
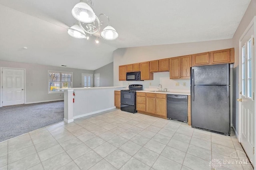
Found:
[[[233,36],[232,42],[235,48],[235,64],[233,69],[233,105],[232,105],[232,124],[238,131],[238,103],[236,99],[239,98],[239,39],[246,30],[247,26],[252,21],[252,18],[256,16],[256,0],[251,0],[237,30]]]

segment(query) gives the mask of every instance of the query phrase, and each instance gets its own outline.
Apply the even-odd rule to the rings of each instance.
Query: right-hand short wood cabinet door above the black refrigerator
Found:
[[[230,63],[230,49],[211,51],[211,63]]]

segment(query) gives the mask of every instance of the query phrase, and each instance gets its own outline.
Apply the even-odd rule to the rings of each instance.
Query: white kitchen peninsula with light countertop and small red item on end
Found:
[[[114,106],[114,91],[126,87],[78,87],[60,89],[64,91],[64,121],[107,111]]]

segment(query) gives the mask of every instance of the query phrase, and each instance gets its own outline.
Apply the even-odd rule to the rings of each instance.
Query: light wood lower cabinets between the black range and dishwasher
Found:
[[[166,94],[137,92],[136,109],[139,113],[167,119]]]

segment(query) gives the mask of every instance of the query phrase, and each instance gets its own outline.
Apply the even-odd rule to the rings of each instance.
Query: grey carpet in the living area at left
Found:
[[[64,101],[0,107],[0,142],[63,121]]]

